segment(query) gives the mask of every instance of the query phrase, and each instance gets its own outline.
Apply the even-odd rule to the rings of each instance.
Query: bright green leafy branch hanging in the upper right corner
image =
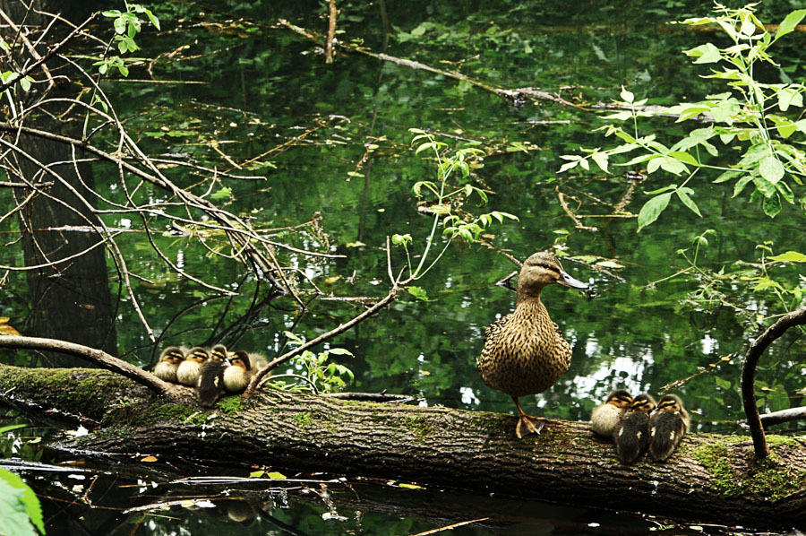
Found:
[[[786,16],[776,34],[765,30],[764,24],[754,14],[754,4],[742,9],[732,9],[716,4],[716,14],[710,17],[688,19],[683,24],[718,24],[733,42],[733,46],[718,48],[713,43],[685,51],[694,58],[694,64],[716,64],[721,69],[712,69],[704,78],[722,81],[729,91],[708,95],[694,103],[682,103],[669,108],[644,108],[646,99],[635,101],[633,94],[622,88],[622,101],[616,105],[626,108],[604,117],[614,120],[631,120],[631,132],[622,126],[606,125],[604,134],[614,135],[622,144],[607,150],[587,150],[585,157],[563,155],[569,160],[560,171],[579,166],[589,169],[588,160],[593,160],[604,172],[613,155],[636,151],[635,156],[622,166],[647,164],[647,173],[664,170],[675,176],[686,175],[682,185],[672,184],[647,192],[652,195],[639,212],[638,230],[655,222],[664,212],[673,195],[682,204],[702,216],[694,201],[694,190],[686,186],[699,169],[721,171],[713,180],[722,183],[734,180],[733,197],[742,194],[745,186],[753,185],[750,201],[760,201],[761,208],[770,218],[781,212],[782,203],[795,203],[794,189],[802,186],[806,177],[806,152],[799,145],[806,134],[806,120],[799,119],[798,109],[803,106],[806,86],[800,83],[764,83],[754,76],[758,63],[776,65],[768,49],[806,16],[806,10],[798,10]],[[778,108],[779,113],[772,113]],[[705,118],[713,125],[697,128],[669,146],[656,140],[656,134],[639,134],[639,118],[656,115],[676,115],[678,122]],[[794,134],[800,134],[794,136]],[[793,137],[794,136],[794,137]],[[726,168],[709,162],[720,155],[715,145],[718,139],[725,147],[737,145],[742,151],[739,160]],[[723,151],[725,152],[725,151]],[[806,196],[799,203],[806,213]]]

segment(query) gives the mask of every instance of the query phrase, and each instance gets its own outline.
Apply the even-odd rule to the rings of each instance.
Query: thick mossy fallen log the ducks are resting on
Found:
[[[155,394],[95,369],[0,366],[0,401],[90,428],[62,448],[261,463],[408,480],[700,523],[806,523],[806,439],[690,434],[666,463],[620,463],[587,423],[550,420],[515,437],[515,418],[263,389],[203,410],[193,391]],[[57,408],[57,411],[53,409]]]

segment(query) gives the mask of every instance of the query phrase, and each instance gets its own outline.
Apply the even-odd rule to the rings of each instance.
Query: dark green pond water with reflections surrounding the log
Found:
[[[578,214],[605,215],[613,213],[613,205],[630,188],[630,182],[619,175],[623,170],[614,176],[556,173],[562,165],[560,155],[579,151],[580,146],[611,145],[612,140],[592,132],[604,124],[596,114],[548,102],[515,108],[467,83],[365,56],[339,57],[333,65],[325,65],[311,42],[272,26],[278,17],[284,17],[322,30],[324,22],[314,14],[322,11],[318,4],[300,5],[296,13],[283,13],[271,5],[219,7],[223,13],[211,17],[221,26],[206,29],[191,23],[201,6],[164,6],[165,14],[155,9],[167,27],[179,31],[150,35],[143,43],[148,56],[190,43],[186,55],[200,55],[198,59],[160,63],[157,73],[162,79],[204,84],[110,83],[107,91],[120,92],[118,112],[131,117],[128,125],[141,133],[141,145],[148,151],[188,153],[228,169],[209,143],[200,143],[200,134],[217,141],[221,151],[236,161],[275,149],[262,159],[271,162],[270,168],[261,170],[265,180],[224,179],[222,186],[231,187],[234,193],[227,208],[251,214],[254,226],[262,229],[296,225],[319,213],[319,230],[305,228],[281,238],[302,247],[327,244],[330,253],[345,258],[310,259],[283,253],[282,260],[298,266],[326,293],[382,297],[387,281],[382,246],[388,235],[410,233],[415,238],[412,251],[422,251],[431,220],[417,212],[410,189],[417,180],[433,180],[434,176],[433,165],[409,149],[412,134],[408,129],[412,127],[448,134],[440,139],[454,147],[472,140],[498,148],[490,151],[484,167],[474,174],[477,185],[494,192],[489,207],[480,209],[473,203],[466,207],[476,213],[499,210],[519,216],[517,222],[505,220],[489,230],[493,237],[487,240],[493,246],[520,259],[551,247],[569,257],[593,255],[587,264],[569,260],[564,265],[574,277],[591,283],[598,298],[588,300],[559,287],[544,293],[553,320],[573,344],[573,361],[557,385],[523,401],[527,411],[586,420],[590,410],[614,388],[658,393],[664,385],[691,376],[725,355],[741,353],[748,338],[758,333],[760,316],[783,312],[774,296],[750,288],[728,289],[739,309],[706,305],[692,299],[701,282],[696,272],[667,278],[689,267],[677,252],[688,249],[691,256],[692,240],[706,229],[716,229],[708,236],[707,248],[699,253],[699,265],[706,270],[718,271],[722,266],[736,270],[735,261],[757,263],[756,246],[764,241],[771,241],[776,253],[803,251],[802,216],[796,208],[785,206],[776,220],[770,220],[758,203],[731,199],[729,188],[712,185],[716,176],[699,177],[691,186],[697,192],[702,219],[678,204],[639,234],[634,218],[587,218],[584,222],[596,229],[575,229],[562,209],[558,191]],[[360,37],[365,46],[381,51],[384,24],[379,5],[344,4],[341,9],[344,39]],[[699,79],[704,71],[690,65],[681,50],[718,38],[664,24],[705,14],[704,7],[674,3],[625,7],[604,2],[562,6],[412,3],[386,9],[388,54],[460,69],[471,78],[502,87],[531,86],[567,96],[579,94],[589,103],[618,99],[622,84],[639,98],[650,97],[657,104],[700,99],[714,91],[711,82]],[[779,21],[784,6],[782,10],[770,22]],[[171,22],[180,14],[188,20]],[[244,17],[244,21],[236,24],[232,17]],[[782,48],[781,53],[792,65],[800,65],[802,47],[794,46],[802,44],[802,37],[792,41],[793,48]],[[776,72],[768,75],[774,82],[779,76]],[[794,79],[802,79],[802,75],[800,66],[789,73]],[[145,73],[132,77],[144,78]],[[649,125],[659,138],[672,139],[683,132],[681,125],[671,121],[656,120]],[[365,143],[375,143],[378,149],[359,164]],[[528,143],[533,150],[511,151],[511,143]],[[172,177],[183,186],[194,182],[192,177]],[[625,210],[639,212],[647,199],[644,192],[665,186],[668,180],[650,177],[636,188]],[[199,191],[206,188],[201,186]],[[106,194],[120,195],[114,191]],[[165,196],[156,190],[150,195]],[[121,215],[110,216],[108,222],[136,228],[138,223],[130,220]],[[9,225],[13,228],[13,222]],[[159,221],[155,225],[161,229]],[[167,229],[167,224],[163,227]],[[167,236],[159,238],[159,245],[187,272],[205,281],[227,287],[242,281],[242,298],[228,303],[213,298],[192,281],[169,275],[141,233],[125,235],[120,244],[133,272],[153,281],[136,281],[135,292],[162,346],[195,344],[216,336],[244,314],[252,293],[260,292],[241,267],[211,257],[192,239]],[[209,238],[209,245],[221,244],[219,238]],[[14,248],[4,248],[0,255],[4,264],[21,263],[21,253]],[[618,277],[591,267],[602,260],[623,266],[608,269]],[[396,250],[393,262],[402,266],[404,261],[402,250]],[[484,245],[451,245],[442,262],[417,282],[430,301],[401,298],[352,332],[330,341],[331,347],[355,354],[352,359],[339,359],[356,374],[349,389],[414,394],[428,405],[513,411],[508,396],[481,382],[475,363],[484,326],[514,307],[514,293],[494,285],[514,269],[503,255]],[[777,273],[798,281],[796,272],[781,269]],[[0,315],[12,317],[19,329],[31,306],[25,298],[24,279],[16,273],[11,277],[17,279],[2,290]],[[10,288],[14,292],[7,290]],[[311,286],[302,283],[301,289],[309,291]],[[116,292],[113,281],[113,295]],[[360,310],[333,300],[314,301],[312,312],[296,333],[313,338]],[[275,300],[251,321],[238,345],[276,355],[295,312],[290,298]],[[121,353],[138,364],[150,363],[159,348],[150,345],[131,307],[123,304],[119,315]],[[806,372],[798,359],[802,355],[802,342],[771,350],[759,370],[759,381],[768,387],[759,393],[766,409],[802,404],[799,390]],[[694,413],[694,429],[742,433],[735,424],[742,419],[740,365],[739,359],[733,359],[714,374],[697,376],[676,390]],[[246,476],[248,471],[230,474]],[[128,482],[131,477],[120,478]],[[117,482],[113,479],[110,488]],[[149,484],[143,480],[142,486],[148,488]],[[343,487],[336,488],[334,494],[349,495]],[[384,488],[367,491],[373,496],[384,493]],[[248,528],[225,521],[222,508],[201,513],[180,507],[166,517],[148,517],[137,533],[290,532],[283,532],[285,529],[267,521],[268,514],[262,514],[261,505],[269,499],[266,511],[294,527],[296,532],[291,533],[301,534],[414,534],[474,516],[490,516],[493,521],[470,524],[452,533],[597,532],[605,530],[600,525],[621,524],[643,532],[655,526],[584,507],[574,510],[510,498],[455,497],[399,488],[391,488],[389,493],[400,497],[386,497],[379,504],[399,504],[399,512],[390,512],[385,506],[370,507],[366,512],[364,506],[343,506],[338,510],[345,520],[322,519],[328,507],[321,498],[311,500],[291,493],[290,498],[280,500],[268,493],[263,500],[249,497],[249,509],[258,521]],[[108,506],[130,507],[127,501],[134,495]],[[465,501],[466,510],[451,511],[467,512],[467,517],[416,514],[424,504],[442,501]],[[218,514],[210,514],[212,511]]]

